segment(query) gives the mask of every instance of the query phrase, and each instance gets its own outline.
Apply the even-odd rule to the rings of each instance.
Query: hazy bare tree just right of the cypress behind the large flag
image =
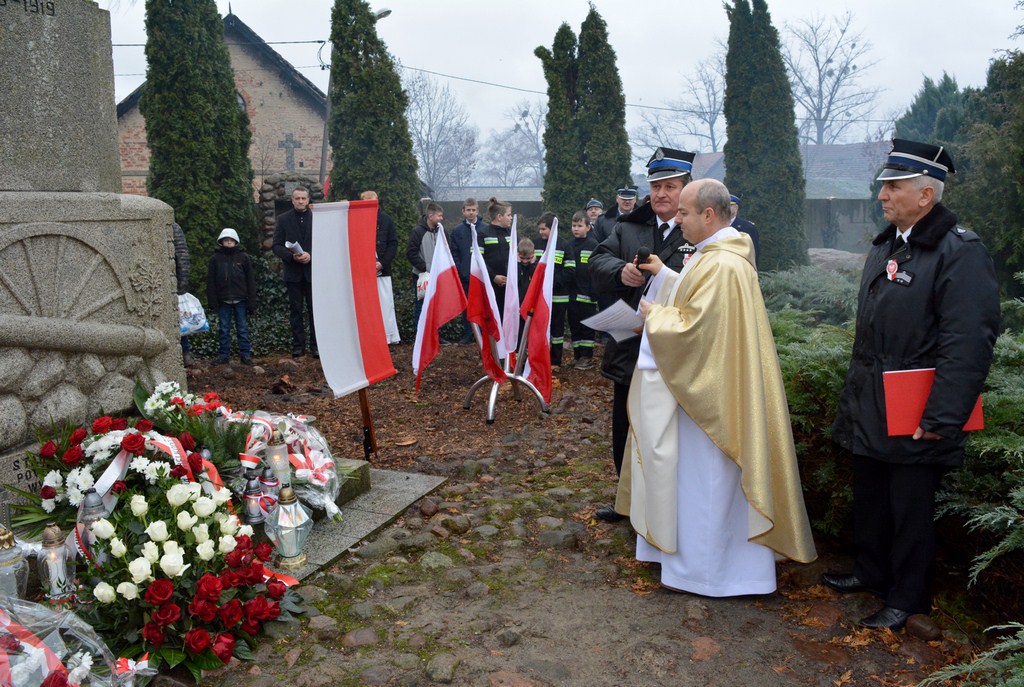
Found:
[[[408,73],[407,73],[408,74]],[[476,128],[447,86],[426,74],[407,77],[409,128],[420,178],[437,194],[469,183],[476,167]]]

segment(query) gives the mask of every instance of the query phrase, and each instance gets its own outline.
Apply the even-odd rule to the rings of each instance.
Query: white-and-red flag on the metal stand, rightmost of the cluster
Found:
[[[537,264],[529,289],[522,300],[522,316],[532,311],[526,337],[526,368],[523,375],[551,402],[551,297],[555,285],[555,246],[558,244],[558,218],[551,222],[551,235],[544,255]]]

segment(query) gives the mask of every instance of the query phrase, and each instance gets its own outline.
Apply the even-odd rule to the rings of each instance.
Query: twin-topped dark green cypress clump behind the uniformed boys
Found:
[[[562,24],[552,49],[541,46],[534,54],[548,82],[544,204],[567,222],[587,199],[609,198],[632,180],[623,82],[607,27],[593,5],[579,43]]]

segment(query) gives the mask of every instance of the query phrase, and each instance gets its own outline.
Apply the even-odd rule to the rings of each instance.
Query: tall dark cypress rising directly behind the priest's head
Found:
[[[726,185],[761,233],[762,269],[807,264],[793,93],[765,0],[733,0],[725,57]]]

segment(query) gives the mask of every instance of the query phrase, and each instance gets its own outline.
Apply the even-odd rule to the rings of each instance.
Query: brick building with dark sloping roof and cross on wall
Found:
[[[281,173],[318,178],[327,106],[324,92],[234,14],[224,17],[224,40],[239,103],[249,114],[253,134],[249,158],[256,188],[265,177]],[[138,110],[141,92],[139,86],[118,103],[118,144],[122,191],[144,196],[150,148],[145,121]]]

